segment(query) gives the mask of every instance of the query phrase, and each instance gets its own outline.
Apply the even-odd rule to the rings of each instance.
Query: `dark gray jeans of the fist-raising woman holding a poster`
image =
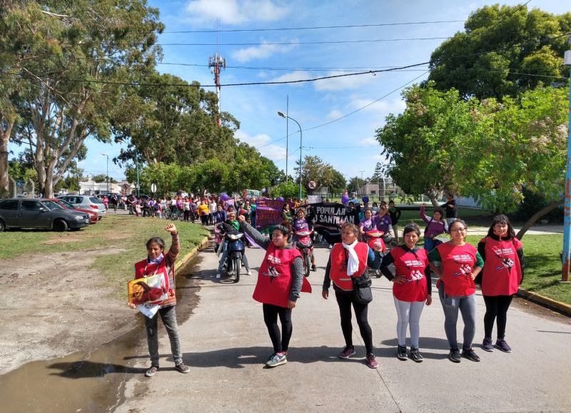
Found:
[[[183,355],[181,353],[181,342],[178,340],[178,325],[176,324],[175,306],[169,305],[168,307],[159,309],[153,318],[145,317],[148,354],[151,356],[151,366],[158,367],[158,335],[156,329],[159,314],[161,315],[161,320],[163,320],[163,325],[166,328],[168,340],[171,340],[171,352],[173,353],[174,364],[181,364],[181,362],[183,362]]]

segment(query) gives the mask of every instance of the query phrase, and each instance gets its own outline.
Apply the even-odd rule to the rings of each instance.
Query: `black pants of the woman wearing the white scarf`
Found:
[[[351,304],[355,310],[355,317],[359,325],[359,331],[363,341],[365,342],[365,349],[367,354],[373,352],[373,330],[371,330],[367,320],[368,304],[359,304],[355,302],[355,295],[353,291],[340,292],[335,291],[335,298],[339,305],[339,315],[341,316],[341,330],[343,330],[343,337],[345,337],[345,345],[353,346],[353,325],[351,324]]]

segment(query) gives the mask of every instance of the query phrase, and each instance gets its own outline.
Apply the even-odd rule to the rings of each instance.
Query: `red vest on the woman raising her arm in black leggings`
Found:
[[[266,257],[258,271],[258,282],[256,282],[252,295],[253,299],[263,304],[288,307],[293,282],[291,266],[297,257],[301,257],[301,254],[295,248],[276,248],[273,243],[268,245]],[[301,291],[311,292],[311,285],[305,277],[303,277]]]

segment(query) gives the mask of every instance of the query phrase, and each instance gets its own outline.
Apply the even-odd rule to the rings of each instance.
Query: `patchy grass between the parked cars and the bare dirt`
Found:
[[[106,275],[109,285],[133,278],[133,265],[146,257],[148,238],[159,236],[171,245],[164,227],[172,221],[159,218],[135,218],[131,215],[107,215],[95,225],[79,231],[54,233],[44,230],[14,230],[0,233],[0,259],[18,255],[51,254],[107,248],[114,253],[101,255],[91,266]],[[208,235],[201,225],[177,221],[181,257]],[[121,296],[123,290],[119,291]]]

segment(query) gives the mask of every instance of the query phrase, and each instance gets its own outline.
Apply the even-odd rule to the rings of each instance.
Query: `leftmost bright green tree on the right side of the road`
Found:
[[[458,189],[453,179],[460,142],[474,127],[470,107],[458,91],[438,91],[434,83],[412,86],[403,91],[405,111],[386,117],[385,126],[376,131],[388,160],[387,171],[405,193],[425,194],[434,206],[443,190]],[[464,147],[477,151],[477,147]]]

